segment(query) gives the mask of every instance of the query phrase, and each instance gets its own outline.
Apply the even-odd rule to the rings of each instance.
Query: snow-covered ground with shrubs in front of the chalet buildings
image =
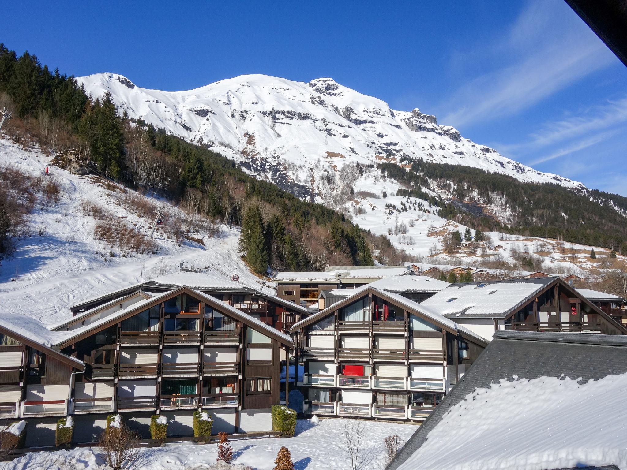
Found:
[[[350,456],[345,452],[344,423],[346,419],[323,419],[319,423],[298,420],[293,437],[243,439],[232,441],[233,463],[245,464],[255,470],[271,470],[278,450],[285,446],[292,453],[295,470],[350,469]],[[361,421],[364,433],[364,457],[372,460],[362,470],[385,468],[383,439],[397,434],[408,439],[418,428],[411,424]],[[201,470],[216,461],[217,444],[172,444],[166,447],[142,449],[133,470]],[[1,470],[95,470],[102,460],[98,449],[82,448],[71,451],[26,454],[13,462],[0,464]]]

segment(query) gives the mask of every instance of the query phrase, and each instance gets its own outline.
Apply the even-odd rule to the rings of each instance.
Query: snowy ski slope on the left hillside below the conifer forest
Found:
[[[0,165],[43,175],[50,158],[38,149],[26,151],[0,138]],[[124,251],[95,238],[98,220],[85,215],[82,204],[101,207],[130,229],[147,236],[152,220],[138,217],[121,202],[123,194],[136,193],[124,187],[110,191],[93,176],[76,176],[53,166],[48,178],[60,185],[59,202],[47,211],[39,205],[34,207],[28,216],[29,236],[19,239],[14,256],[1,262],[0,313],[23,314],[45,324],[58,323],[71,315],[68,306],[73,303],[137,283],[141,278],[178,271],[181,262],[186,267],[214,266],[225,274],[216,270],[208,273],[224,279],[239,274],[243,283],[262,288],[261,280],[240,259],[236,229],[219,226],[218,236],[190,232],[191,237],[203,241],[203,246],[187,239],[177,243],[168,235],[168,227],[158,227],[154,237],[156,254],[128,253],[124,257]],[[168,212],[179,211],[161,204]]]

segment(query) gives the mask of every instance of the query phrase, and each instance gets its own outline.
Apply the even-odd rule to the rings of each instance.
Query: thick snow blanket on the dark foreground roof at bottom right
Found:
[[[514,379],[453,405],[398,469],[627,468],[627,373]]]

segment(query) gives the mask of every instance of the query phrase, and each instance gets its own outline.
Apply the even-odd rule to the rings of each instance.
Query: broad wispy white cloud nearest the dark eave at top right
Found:
[[[554,0],[530,3],[503,41],[486,51],[485,61],[502,65],[453,93],[445,108],[454,111],[442,122],[460,127],[515,115],[615,58],[567,6]]]

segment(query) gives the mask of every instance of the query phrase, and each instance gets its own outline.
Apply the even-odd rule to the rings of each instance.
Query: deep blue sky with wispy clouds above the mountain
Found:
[[[627,68],[563,0],[11,2],[0,31],[68,75],[145,88],[330,76],[627,196]]]

